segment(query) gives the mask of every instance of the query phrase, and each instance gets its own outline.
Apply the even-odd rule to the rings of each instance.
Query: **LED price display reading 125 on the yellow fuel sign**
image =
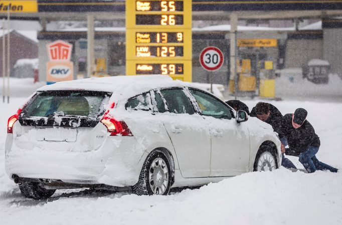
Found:
[[[137,57],[178,57],[183,56],[183,46],[137,46]]]

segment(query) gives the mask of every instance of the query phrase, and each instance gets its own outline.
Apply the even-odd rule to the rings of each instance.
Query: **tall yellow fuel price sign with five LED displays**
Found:
[[[192,81],[192,1],[126,1],[126,75]]]

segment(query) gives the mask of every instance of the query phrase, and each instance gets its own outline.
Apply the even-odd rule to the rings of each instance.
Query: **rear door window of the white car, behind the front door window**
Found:
[[[164,89],[160,91],[172,113],[194,114],[195,110],[183,89]]]

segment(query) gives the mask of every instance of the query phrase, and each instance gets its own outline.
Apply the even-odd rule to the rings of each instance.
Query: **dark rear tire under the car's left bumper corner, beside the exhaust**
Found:
[[[25,197],[33,199],[47,199],[51,197],[56,190],[48,190],[41,187],[37,182],[19,183],[19,189]]]

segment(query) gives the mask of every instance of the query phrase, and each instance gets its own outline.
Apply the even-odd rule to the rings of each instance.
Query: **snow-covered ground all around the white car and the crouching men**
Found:
[[[21,86],[20,82],[24,81],[17,81],[17,87]],[[29,83],[28,89],[33,89]],[[306,85],[306,81],[287,88],[299,93],[298,86],[301,85]],[[323,86],[314,87],[318,90]],[[307,119],[321,140],[317,158],[342,169],[342,97],[339,95],[342,86],[335,87],[329,83],[325,86],[327,91],[328,87],[333,89],[329,92],[333,97],[331,101],[329,96],[324,96],[324,100],[310,98],[297,101],[288,95],[291,98],[268,102],[283,114],[298,107],[307,109]],[[24,93],[24,89],[16,91],[14,87],[13,90],[21,97],[11,98],[10,104],[0,101],[0,224],[21,221],[26,224],[63,225],[342,224],[340,171],[307,174],[280,168],[274,172],[252,172],[198,189],[173,190],[168,196],[137,196],[130,192],[89,193],[76,189],[59,190],[48,201],[25,198],[4,169],[7,119],[30,94]],[[320,92],[324,94],[323,90]],[[243,101],[251,109],[260,99]],[[290,159],[303,168],[296,157]]]

